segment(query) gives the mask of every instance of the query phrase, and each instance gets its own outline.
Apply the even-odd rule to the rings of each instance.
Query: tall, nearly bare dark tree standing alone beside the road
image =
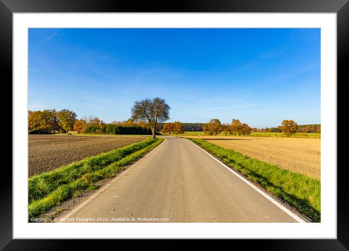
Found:
[[[148,121],[152,129],[153,139],[155,139],[155,129],[158,122],[164,122],[170,119],[170,106],[162,98],[142,99],[135,101],[131,108],[133,121]]]

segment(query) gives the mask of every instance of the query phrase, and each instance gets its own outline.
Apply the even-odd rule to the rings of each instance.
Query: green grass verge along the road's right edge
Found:
[[[274,164],[239,154],[201,139],[189,139],[239,170],[272,194],[289,202],[313,221],[321,220],[321,183],[317,179],[281,169]]]

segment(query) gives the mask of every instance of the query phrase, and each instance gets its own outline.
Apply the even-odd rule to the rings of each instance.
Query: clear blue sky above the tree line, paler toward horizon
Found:
[[[29,109],[127,120],[161,97],[171,121],[320,123],[320,29],[29,29]]]

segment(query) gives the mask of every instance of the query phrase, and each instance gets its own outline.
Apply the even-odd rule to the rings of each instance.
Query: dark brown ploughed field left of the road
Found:
[[[119,135],[28,135],[28,177],[145,139]]]

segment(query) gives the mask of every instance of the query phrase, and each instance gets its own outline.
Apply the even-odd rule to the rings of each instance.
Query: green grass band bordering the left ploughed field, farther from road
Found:
[[[28,202],[43,198],[56,190],[59,186],[69,184],[86,173],[90,173],[101,169],[125,156],[134,153],[156,140],[147,138],[144,141],[127,145],[122,148],[102,153],[82,161],[74,162],[66,166],[62,166],[56,170],[33,176],[28,181]]]

